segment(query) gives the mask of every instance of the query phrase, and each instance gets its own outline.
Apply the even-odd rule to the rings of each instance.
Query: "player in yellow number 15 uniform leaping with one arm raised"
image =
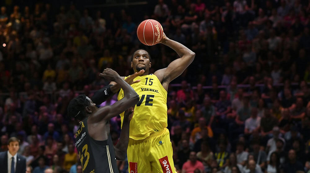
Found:
[[[139,49],[134,52],[131,67],[135,72],[144,70],[137,76],[132,88],[139,95],[134,115],[130,122],[127,158],[129,173],[173,173],[173,151],[167,127],[167,91],[169,83],[181,75],[194,60],[195,53],[184,45],[170,40],[163,34],[162,44],[174,49],[180,58],[172,61],[167,68],[149,74],[150,54]],[[126,79],[127,77],[122,77]],[[139,81],[139,82],[137,82]],[[111,91],[119,91],[117,99],[124,97],[123,90],[111,82]],[[124,112],[121,114],[123,123]]]

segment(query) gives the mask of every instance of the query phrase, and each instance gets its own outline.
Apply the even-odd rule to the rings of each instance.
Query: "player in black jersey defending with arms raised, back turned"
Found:
[[[96,104],[103,101],[98,98],[104,97],[110,92],[106,89],[95,93],[96,104],[86,95],[79,95],[70,101],[68,115],[80,120],[80,128],[75,134],[75,146],[78,149],[83,173],[118,173],[116,159],[125,159],[133,106],[139,101],[139,96],[128,83],[139,82],[132,80],[143,73],[144,70],[141,70],[133,74],[127,81],[124,81],[112,69],[105,69],[100,74],[107,80],[116,81],[125,91],[125,99],[117,101],[111,106],[96,107]],[[109,120],[124,111],[124,124],[120,140],[114,147],[109,133]]]

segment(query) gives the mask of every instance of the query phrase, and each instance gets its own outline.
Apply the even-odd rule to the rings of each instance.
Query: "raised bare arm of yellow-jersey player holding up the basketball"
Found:
[[[170,40],[163,33],[163,38],[161,40],[162,44],[169,46],[171,49],[179,55],[180,58],[172,61],[167,68],[157,70],[154,74],[157,76],[159,81],[161,81],[164,88],[168,89],[168,84],[179,75],[181,75],[184,70],[190,65],[194,58],[195,53],[185,47],[183,44],[180,44],[174,40]]]

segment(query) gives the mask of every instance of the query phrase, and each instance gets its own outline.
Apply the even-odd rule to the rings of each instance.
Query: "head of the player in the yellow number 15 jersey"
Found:
[[[151,62],[149,58],[150,56],[148,52],[146,52],[145,50],[137,50],[133,55],[131,67],[134,69],[135,72],[139,72],[140,70],[148,72],[151,67]]]

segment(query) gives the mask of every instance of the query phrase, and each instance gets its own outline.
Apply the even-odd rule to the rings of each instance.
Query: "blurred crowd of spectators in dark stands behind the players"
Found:
[[[1,7],[1,151],[18,137],[34,173],[80,172],[79,124],[66,117],[68,103],[107,85],[98,75],[107,67],[132,74],[138,48],[149,51],[151,73],[178,58],[137,39],[137,25],[156,19],[196,53],[167,96],[179,172],[310,172],[310,1],[159,0],[135,19],[129,8],[102,14],[77,6]],[[120,117],[110,126],[116,144]],[[126,172],[128,163],[118,167]]]

